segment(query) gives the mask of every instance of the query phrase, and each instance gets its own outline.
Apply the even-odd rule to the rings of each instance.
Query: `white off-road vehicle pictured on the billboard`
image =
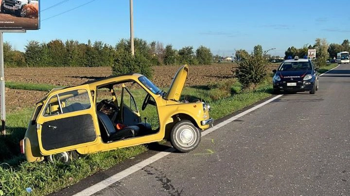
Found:
[[[26,17],[28,4],[38,4],[37,0],[2,0],[0,11],[2,13],[15,13],[17,16]]]

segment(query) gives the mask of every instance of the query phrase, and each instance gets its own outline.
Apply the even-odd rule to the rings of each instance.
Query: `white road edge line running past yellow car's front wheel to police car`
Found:
[[[207,134],[209,134],[212,131],[215,131],[215,130],[219,129],[220,127],[223,127],[223,126],[227,125],[228,123],[236,120],[237,118],[242,117],[245,114],[248,114],[248,113],[250,113],[250,112],[252,112],[252,111],[254,111],[254,110],[256,110],[256,109],[258,109],[258,108],[260,108],[260,107],[262,107],[264,105],[266,105],[267,103],[270,103],[271,101],[273,101],[273,100],[275,100],[277,98],[280,98],[281,96],[283,96],[283,95],[278,95],[276,97],[270,98],[269,100],[266,100],[266,101],[262,102],[261,104],[250,108],[249,110],[246,110],[246,111],[244,111],[244,112],[242,112],[240,114],[237,114],[237,115],[235,115],[235,116],[233,116],[233,117],[231,117],[231,118],[229,118],[229,119],[227,119],[227,120],[225,120],[225,121],[215,125],[214,127],[210,128],[210,129],[207,129],[206,131],[203,131],[202,132],[202,137],[207,135]],[[142,169],[143,167],[145,167],[145,166],[147,166],[147,165],[149,165],[151,163],[156,162],[157,160],[167,156],[168,154],[170,154],[172,152],[175,152],[174,148],[168,148],[168,149],[166,149],[163,152],[159,152],[156,155],[153,155],[152,157],[150,157],[150,158],[148,158],[148,159],[146,159],[144,161],[141,161],[140,163],[137,163],[137,164],[135,164],[135,165],[133,165],[133,166],[131,166],[131,167],[129,167],[129,168],[127,168],[127,169],[125,169],[125,170],[123,170],[123,171],[121,171],[121,172],[119,172],[119,173],[117,173],[117,174],[115,174],[115,175],[105,179],[105,180],[102,180],[102,181],[100,181],[100,182],[98,182],[98,183],[88,187],[87,189],[82,190],[81,192],[75,194],[74,196],[90,196],[90,195],[92,195],[94,193],[97,193],[97,192],[105,189],[109,185],[112,185],[113,183],[115,183],[115,182],[117,182],[119,180],[122,180],[123,178],[131,175],[132,173],[134,173],[136,171],[139,171],[140,169]]]

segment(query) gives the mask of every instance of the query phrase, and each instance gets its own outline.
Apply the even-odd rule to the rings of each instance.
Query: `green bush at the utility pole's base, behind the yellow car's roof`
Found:
[[[148,78],[152,78],[152,65],[142,54],[132,56],[129,52],[117,54],[112,67],[113,75],[122,75],[130,72],[140,73]]]

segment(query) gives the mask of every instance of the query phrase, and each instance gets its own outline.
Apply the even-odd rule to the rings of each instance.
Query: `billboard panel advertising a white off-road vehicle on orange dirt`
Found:
[[[38,30],[39,0],[0,0],[1,30]]]

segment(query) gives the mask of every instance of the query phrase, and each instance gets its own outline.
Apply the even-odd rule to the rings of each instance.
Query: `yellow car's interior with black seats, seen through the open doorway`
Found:
[[[96,100],[103,98],[97,101],[96,113],[105,143],[157,132],[147,118],[141,121],[136,101],[124,83],[100,86],[96,94]]]

